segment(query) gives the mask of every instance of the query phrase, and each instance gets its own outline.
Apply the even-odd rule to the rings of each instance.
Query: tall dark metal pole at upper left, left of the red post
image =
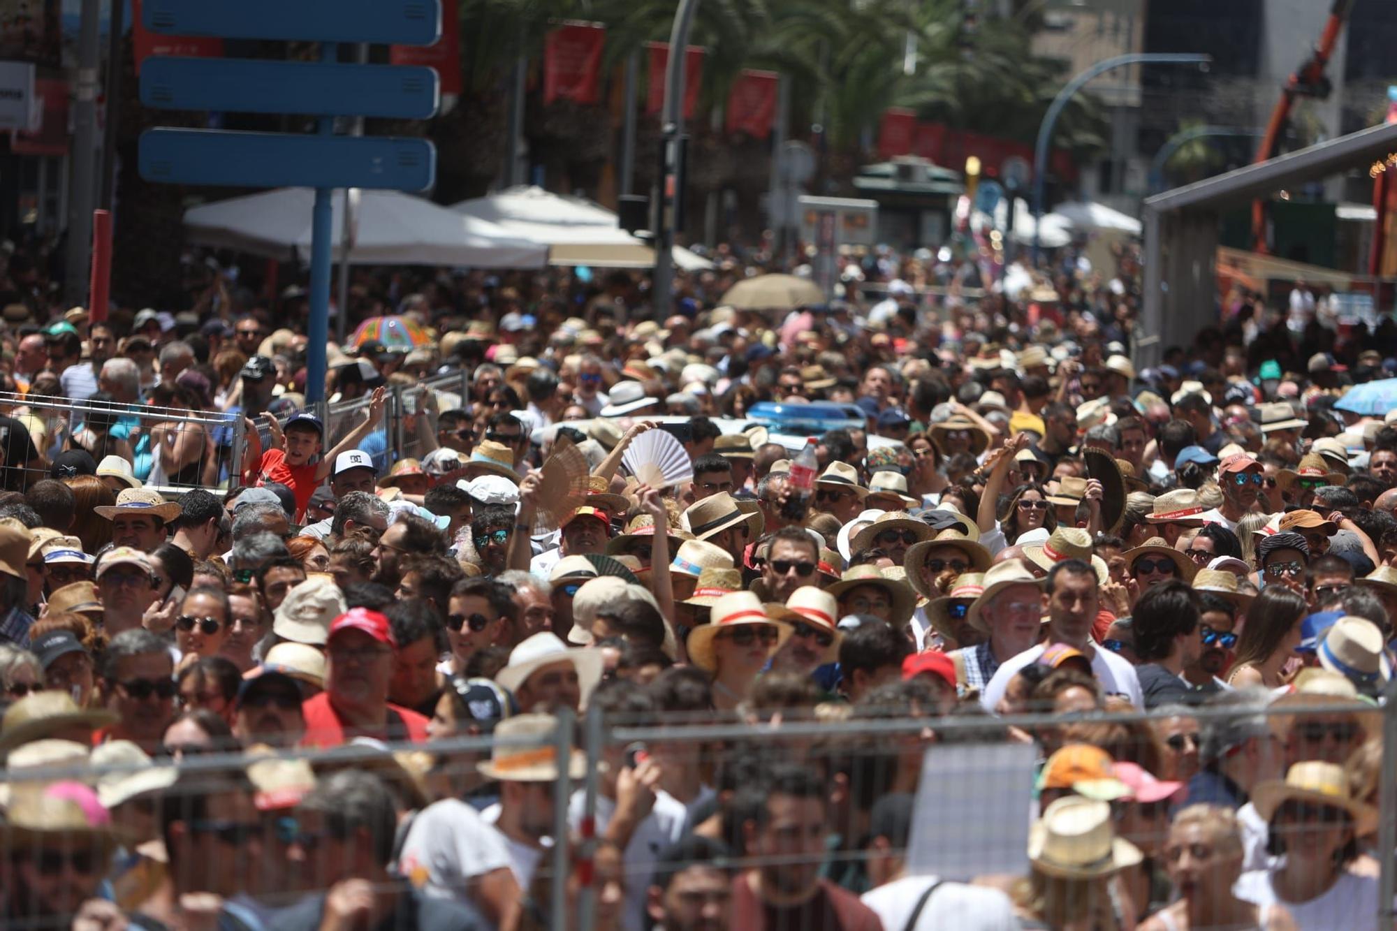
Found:
[[[78,71],[73,101],[73,173],[68,201],[68,256],[63,294],[67,302],[87,303],[88,264],[92,259],[92,208],[96,205],[96,68],[98,18],[102,0],[82,0],[78,34]]]

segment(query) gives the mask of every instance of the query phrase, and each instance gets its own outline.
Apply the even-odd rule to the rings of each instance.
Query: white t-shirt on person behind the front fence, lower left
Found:
[[[474,909],[468,897],[471,881],[510,865],[504,842],[504,835],[474,808],[443,798],[412,819],[398,854],[398,871],[423,895]]]

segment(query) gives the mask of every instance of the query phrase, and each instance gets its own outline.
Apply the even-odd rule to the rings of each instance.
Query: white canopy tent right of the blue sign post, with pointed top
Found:
[[[616,214],[583,197],[520,186],[464,200],[451,210],[546,246],[552,266],[650,268],[655,264],[654,249],[622,229]],[[675,246],[673,257],[685,271],[712,268],[711,261],[682,246]]]

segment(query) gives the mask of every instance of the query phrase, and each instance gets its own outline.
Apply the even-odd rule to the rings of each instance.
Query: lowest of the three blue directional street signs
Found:
[[[434,173],[436,147],[425,138],[183,129],[141,134],[141,178],[170,185],[426,190]]]

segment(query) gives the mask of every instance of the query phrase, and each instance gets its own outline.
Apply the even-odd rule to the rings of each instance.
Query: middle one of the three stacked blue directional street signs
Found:
[[[425,120],[439,96],[436,71],[414,66],[154,56],[141,67],[141,103],[165,110]]]

